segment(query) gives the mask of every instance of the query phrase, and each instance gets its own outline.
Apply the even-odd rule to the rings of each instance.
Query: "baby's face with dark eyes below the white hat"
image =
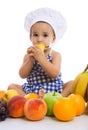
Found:
[[[55,40],[55,34],[52,27],[45,22],[35,23],[30,30],[30,40],[35,44],[45,44],[46,47],[50,46]]]

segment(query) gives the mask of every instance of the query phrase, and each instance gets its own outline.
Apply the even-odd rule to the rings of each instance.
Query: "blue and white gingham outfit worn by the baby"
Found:
[[[47,60],[52,62],[50,54],[47,56]],[[34,62],[32,71],[27,77],[27,82],[22,85],[23,90],[28,94],[31,92],[39,93],[40,89],[44,89],[45,92],[57,91],[61,93],[63,81],[61,80],[61,73],[57,78],[50,78],[44,72],[38,61]]]

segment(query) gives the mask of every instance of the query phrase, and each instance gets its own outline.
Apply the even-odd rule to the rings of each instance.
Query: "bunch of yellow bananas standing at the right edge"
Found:
[[[88,65],[85,70],[79,73],[73,81],[72,93],[80,94],[82,97],[88,98]],[[86,97],[85,97],[86,96]]]

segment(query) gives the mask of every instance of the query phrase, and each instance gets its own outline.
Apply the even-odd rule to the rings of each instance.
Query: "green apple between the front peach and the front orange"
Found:
[[[44,95],[43,99],[47,104],[47,116],[54,116],[53,106],[56,101],[62,98],[62,95],[58,92],[48,92]]]

